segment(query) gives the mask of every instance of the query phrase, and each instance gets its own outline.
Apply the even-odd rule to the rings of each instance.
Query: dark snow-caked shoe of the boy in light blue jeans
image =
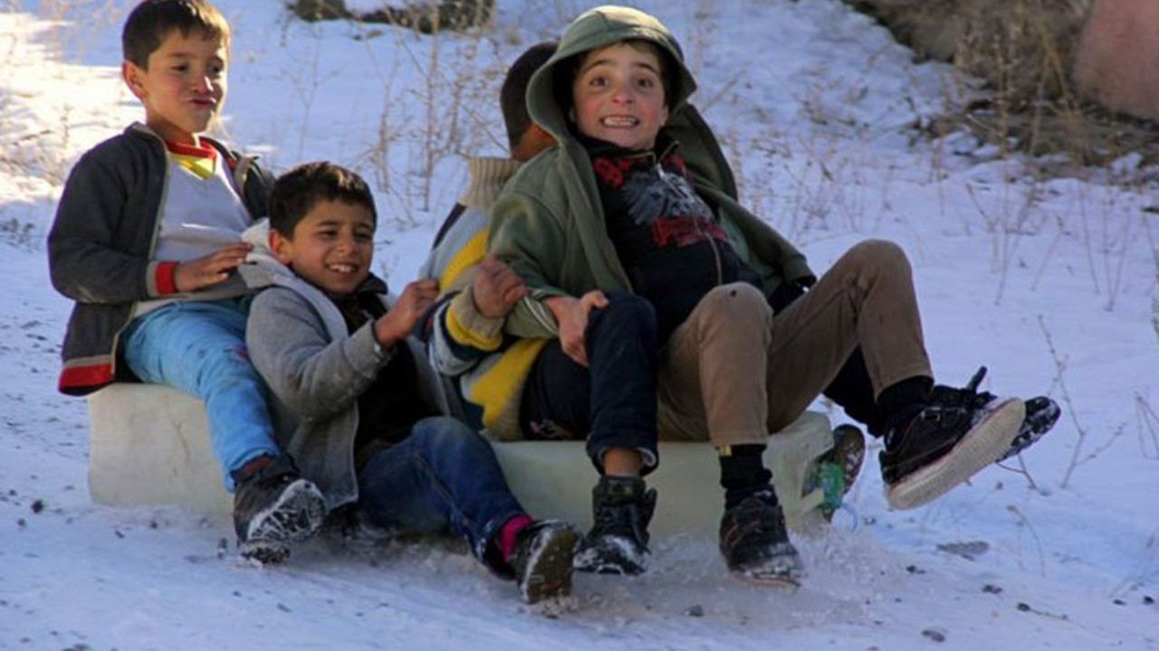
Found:
[[[279,563],[290,555],[286,543],[305,540],[322,526],[322,493],[289,456],[250,461],[234,473],[234,481],[233,526],[243,557]]]

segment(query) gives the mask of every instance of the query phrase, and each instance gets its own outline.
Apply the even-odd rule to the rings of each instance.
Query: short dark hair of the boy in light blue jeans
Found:
[[[148,56],[156,51],[175,29],[182,36],[201,31],[220,38],[229,47],[229,23],[206,0],[144,0],[133,8],[121,32],[121,50],[126,61],[148,67]]]

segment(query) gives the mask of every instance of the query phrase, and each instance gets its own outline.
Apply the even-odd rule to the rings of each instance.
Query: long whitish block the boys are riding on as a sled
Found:
[[[89,492],[97,504],[176,505],[227,518],[233,502],[210,453],[202,403],[158,385],[114,385],[88,398]],[[563,518],[586,528],[598,475],[578,441],[493,444],[512,492],[534,517]],[[818,491],[800,492],[810,461],[832,447],[829,419],[808,412],[770,437],[766,465],[790,528],[816,506]],[[720,465],[707,442],[661,442],[659,468],[648,476],[659,500],[653,536],[678,532],[716,535],[723,506]],[[790,489],[788,487],[794,487]]]

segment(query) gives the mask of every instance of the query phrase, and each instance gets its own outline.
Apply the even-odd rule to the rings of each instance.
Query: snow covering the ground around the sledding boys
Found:
[[[462,156],[502,153],[504,63],[586,7],[500,0],[494,30],[428,37],[218,3],[228,138],[276,170],[326,158],[364,174],[396,285]],[[529,607],[453,542],[316,541],[254,568],[223,549],[228,522],[92,504],[85,403],[54,388],[70,306],[43,240],[72,162],[141,116],[118,80],[131,2],[7,6],[0,649],[1159,649],[1159,222],[1137,159],[1052,178],[965,133],[917,138],[909,125],[969,88],[836,0],[639,2],[684,44],[746,203],[814,269],[898,242],[939,380],[985,364],[986,389],[1048,394],[1064,416],[1021,460],[910,512],[887,509],[872,441],[855,517],[796,539],[797,591],[742,585],[713,541],[676,537],[642,577],[580,576],[570,599]]]

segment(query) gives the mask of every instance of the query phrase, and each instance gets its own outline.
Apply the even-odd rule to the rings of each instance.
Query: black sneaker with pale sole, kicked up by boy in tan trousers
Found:
[[[885,432],[880,455],[891,509],[916,509],[969,480],[1005,454],[1026,417],[1018,398],[984,407],[963,390],[939,388],[909,423]]]

